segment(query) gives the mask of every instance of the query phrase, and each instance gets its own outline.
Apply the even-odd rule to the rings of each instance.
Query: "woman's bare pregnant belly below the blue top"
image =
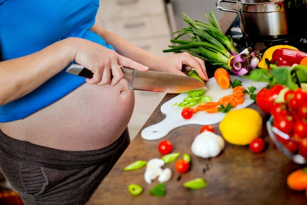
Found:
[[[134,92],[123,79],[114,87],[84,84],[52,105],[13,122],[0,124],[10,137],[68,151],[105,148],[128,125]]]

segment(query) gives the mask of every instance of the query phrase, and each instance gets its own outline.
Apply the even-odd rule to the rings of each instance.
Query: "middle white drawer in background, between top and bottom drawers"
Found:
[[[104,29],[127,39],[170,35],[165,15],[112,20],[104,22]]]

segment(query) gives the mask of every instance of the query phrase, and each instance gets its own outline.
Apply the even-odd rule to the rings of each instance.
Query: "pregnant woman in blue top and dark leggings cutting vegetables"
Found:
[[[85,204],[126,148],[134,92],[120,66],[208,80],[199,58],[157,57],[103,30],[98,7],[0,0],[0,171],[26,205]],[[73,61],[93,78],[66,73]]]

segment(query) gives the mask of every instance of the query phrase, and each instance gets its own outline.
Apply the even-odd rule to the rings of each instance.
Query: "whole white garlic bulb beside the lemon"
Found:
[[[225,147],[224,139],[213,132],[204,131],[197,135],[191,146],[192,153],[202,158],[216,157]]]

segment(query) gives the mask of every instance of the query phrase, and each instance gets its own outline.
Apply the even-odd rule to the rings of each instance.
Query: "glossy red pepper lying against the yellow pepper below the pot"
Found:
[[[294,64],[300,64],[300,61],[307,57],[307,53],[302,51],[280,48],[276,49],[272,54],[272,64],[277,63],[276,66],[293,66]]]

